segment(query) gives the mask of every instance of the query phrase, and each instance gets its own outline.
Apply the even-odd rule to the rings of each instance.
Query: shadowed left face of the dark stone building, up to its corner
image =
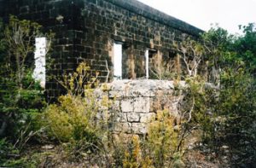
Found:
[[[50,68],[46,70],[46,90],[50,98],[63,93],[61,85],[49,77],[61,77],[70,72],[79,61],[74,55],[74,2],[72,0],[2,0],[3,11],[0,17],[8,21],[9,14],[19,19],[33,20],[44,26],[44,32],[55,32],[53,51],[50,53]],[[1,3],[1,2],[0,2]],[[1,6],[1,5],[0,5]],[[0,7],[1,8],[1,7]]]

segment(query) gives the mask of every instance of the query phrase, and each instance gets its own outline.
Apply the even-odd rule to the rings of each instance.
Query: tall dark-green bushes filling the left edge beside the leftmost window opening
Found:
[[[0,23],[0,29],[0,136],[22,147],[20,137],[24,140],[33,131],[32,119],[45,105],[43,90],[32,78],[34,42],[43,33],[38,23],[15,16],[9,24]]]

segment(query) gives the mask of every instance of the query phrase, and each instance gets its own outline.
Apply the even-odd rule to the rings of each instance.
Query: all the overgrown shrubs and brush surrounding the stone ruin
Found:
[[[186,159],[195,151],[220,160],[219,166],[253,167],[256,31],[253,24],[241,29],[239,37],[215,27],[196,41],[173,43],[187,83],[180,117],[159,111],[147,135],[121,136],[111,132],[114,100],[96,95],[97,77],[85,63],[55,78],[67,95],[46,105],[44,90],[32,78],[41,26],[14,16],[7,25],[0,21],[0,166],[185,167],[197,166]],[[193,136],[199,141],[189,146]],[[24,154],[32,142],[40,149]]]

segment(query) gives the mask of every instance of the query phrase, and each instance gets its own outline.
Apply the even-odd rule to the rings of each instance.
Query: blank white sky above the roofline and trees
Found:
[[[256,0],[138,0],[190,25],[209,30],[215,25],[241,33],[239,25],[256,22]]]

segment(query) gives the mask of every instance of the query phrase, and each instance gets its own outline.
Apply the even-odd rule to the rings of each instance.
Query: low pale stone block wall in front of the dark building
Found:
[[[141,79],[116,80],[108,84],[103,94],[113,100],[113,131],[145,134],[158,110],[166,109],[178,116],[181,96],[176,86],[183,87],[184,82]],[[102,95],[100,92],[97,94]]]

